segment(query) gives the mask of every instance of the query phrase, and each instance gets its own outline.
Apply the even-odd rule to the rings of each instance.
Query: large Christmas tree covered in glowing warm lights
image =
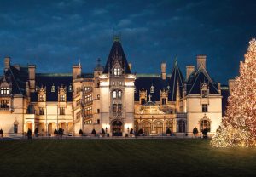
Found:
[[[240,76],[235,79],[227,111],[213,135],[214,147],[256,146],[256,40],[249,42]]]

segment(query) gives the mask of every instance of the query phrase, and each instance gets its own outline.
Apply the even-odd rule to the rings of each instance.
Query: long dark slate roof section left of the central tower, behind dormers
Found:
[[[46,101],[58,101],[58,88],[66,87],[67,101],[72,101],[73,92],[68,90],[72,85],[73,77],[71,74],[36,74],[36,87],[46,87]],[[55,92],[51,92],[52,86],[55,86]],[[38,93],[31,93],[32,102],[38,101]]]

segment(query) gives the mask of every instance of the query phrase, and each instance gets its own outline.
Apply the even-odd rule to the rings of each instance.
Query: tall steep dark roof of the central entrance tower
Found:
[[[108,55],[108,60],[107,60],[107,63],[105,65],[103,73],[108,73],[109,69],[113,68],[113,58],[114,57],[119,57],[119,56],[121,56],[119,58],[119,60],[121,60],[121,63],[123,65],[121,67],[125,69],[125,73],[131,74],[130,67],[129,67],[128,62],[127,62],[126,57],[125,57],[125,52],[124,52],[124,50],[122,48],[122,45],[119,41],[114,41],[113,42],[112,48],[111,48],[110,53]]]

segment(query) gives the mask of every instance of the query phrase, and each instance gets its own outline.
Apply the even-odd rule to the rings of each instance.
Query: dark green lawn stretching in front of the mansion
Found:
[[[255,148],[209,140],[0,141],[0,176],[255,176]]]

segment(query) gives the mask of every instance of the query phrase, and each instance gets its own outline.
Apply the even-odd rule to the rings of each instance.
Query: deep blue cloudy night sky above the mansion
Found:
[[[0,58],[37,65],[38,72],[83,72],[102,64],[121,34],[132,71],[160,73],[174,58],[185,75],[207,54],[215,81],[238,75],[248,41],[256,37],[256,1],[11,1],[0,2]],[[1,63],[3,71],[3,62]]]

